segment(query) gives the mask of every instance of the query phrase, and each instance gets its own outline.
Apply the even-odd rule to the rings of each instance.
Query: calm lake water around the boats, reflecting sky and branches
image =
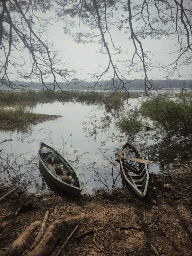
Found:
[[[139,100],[130,100],[131,107],[140,104]],[[123,111],[131,108],[124,105]],[[78,171],[84,190],[112,186],[121,186],[119,164],[114,153],[127,141],[124,134],[115,127],[116,119],[106,113],[104,106],[87,105],[78,102],[54,102],[37,104],[33,113],[60,115],[55,120],[30,125],[24,130],[1,130],[0,144],[1,172],[5,184],[25,180],[28,191],[40,192],[47,189],[38,170],[37,151],[40,142],[58,150]],[[118,116],[118,115],[117,115]],[[144,133],[144,132],[143,132]],[[133,143],[132,141],[130,141]],[[185,157],[180,148],[173,148],[169,142],[162,142],[148,134],[147,139],[136,137],[138,146],[145,159],[154,160],[149,165],[150,172],[166,172],[167,167]],[[184,158],[184,164],[189,159]],[[8,162],[6,169],[5,163]],[[3,167],[2,167],[3,165]],[[117,179],[116,179],[117,177]],[[116,179],[116,180],[115,180]],[[114,181],[115,180],[115,181]],[[1,182],[0,182],[1,183]]]

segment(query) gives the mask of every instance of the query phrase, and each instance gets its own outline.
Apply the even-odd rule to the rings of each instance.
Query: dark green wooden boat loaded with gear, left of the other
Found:
[[[48,162],[47,157],[52,157],[52,159],[55,159],[58,164],[62,164],[63,167],[67,171],[67,176],[72,176],[74,179],[73,185],[70,185],[64,181],[62,181],[62,174],[57,172],[53,173],[48,168]],[[39,168],[43,175],[43,178],[45,179],[45,182],[47,185],[56,190],[63,190],[67,193],[70,193],[72,195],[79,195],[82,191],[82,185],[81,180],[79,178],[78,173],[73,169],[71,164],[64,159],[62,155],[60,155],[56,150],[54,150],[52,147],[47,146],[45,143],[41,142],[40,147],[38,149],[38,157],[39,157]],[[56,169],[56,168],[55,168]]]

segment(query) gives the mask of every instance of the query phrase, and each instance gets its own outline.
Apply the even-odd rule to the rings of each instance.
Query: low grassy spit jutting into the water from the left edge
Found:
[[[29,123],[39,123],[58,118],[55,115],[35,114],[21,107],[0,108],[0,128],[11,128],[29,125]]]

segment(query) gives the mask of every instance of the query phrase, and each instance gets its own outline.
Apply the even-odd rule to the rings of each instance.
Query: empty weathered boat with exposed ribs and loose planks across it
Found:
[[[124,154],[128,155],[130,153],[134,153],[136,158],[124,156]],[[118,151],[115,156],[119,157],[116,161],[120,163],[123,187],[128,183],[136,194],[143,198],[146,195],[149,183],[147,164],[153,161],[143,159],[139,150],[129,142],[125,143],[122,150]],[[130,164],[130,161],[136,163],[137,166],[136,164]]]

